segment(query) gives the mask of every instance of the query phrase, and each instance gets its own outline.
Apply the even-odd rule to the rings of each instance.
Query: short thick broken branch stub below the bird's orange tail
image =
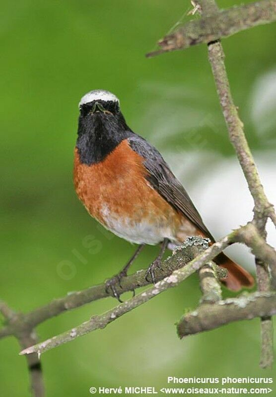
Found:
[[[229,298],[214,304],[203,304],[185,315],[177,324],[180,338],[217,328],[232,321],[273,316],[276,314],[276,294],[256,292]]]

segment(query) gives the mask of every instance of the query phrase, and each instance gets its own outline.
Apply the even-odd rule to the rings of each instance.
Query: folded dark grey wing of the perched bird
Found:
[[[188,218],[204,235],[214,240],[204,225],[188,193],[152,145],[139,135],[128,138],[130,147],[144,159],[151,186],[178,212]]]

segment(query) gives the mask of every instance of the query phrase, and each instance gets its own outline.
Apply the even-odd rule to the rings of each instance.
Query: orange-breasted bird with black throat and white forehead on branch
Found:
[[[127,125],[118,97],[106,90],[86,93],[79,102],[73,181],[88,213],[106,229],[138,244],[123,269],[106,281],[120,302],[118,284],[145,245],[160,245],[146,278],[155,283],[166,248],[188,236],[215,239],[158,150]],[[223,283],[232,291],[254,285],[253,276],[223,252],[214,258],[228,270]],[[119,287],[120,288],[120,287]]]

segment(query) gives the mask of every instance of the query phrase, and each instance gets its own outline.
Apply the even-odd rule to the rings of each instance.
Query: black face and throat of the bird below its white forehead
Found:
[[[102,161],[124,139],[133,135],[118,109],[114,113],[80,109],[76,147],[81,163],[91,165]]]

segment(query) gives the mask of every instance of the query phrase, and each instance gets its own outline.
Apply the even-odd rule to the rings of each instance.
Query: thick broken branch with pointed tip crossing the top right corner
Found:
[[[217,10],[214,15],[205,15],[201,19],[192,20],[176,32],[165,36],[158,42],[161,49],[147,54],[147,57],[209,43],[274,21],[276,21],[276,0],[262,0]]]

